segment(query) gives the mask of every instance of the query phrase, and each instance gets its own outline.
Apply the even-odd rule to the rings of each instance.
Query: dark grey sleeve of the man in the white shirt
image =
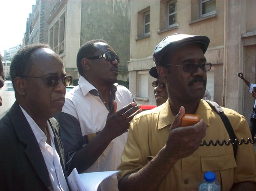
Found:
[[[79,121],[74,116],[62,112],[57,114],[55,118],[60,124],[60,137],[65,152],[66,172],[70,174],[72,171],[72,158],[75,152],[87,142],[87,136],[85,138],[82,136]]]

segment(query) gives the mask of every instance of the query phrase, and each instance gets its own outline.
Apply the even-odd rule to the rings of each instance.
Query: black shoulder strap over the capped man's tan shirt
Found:
[[[234,151],[234,157],[236,156],[236,149],[237,149],[237,144],[235,142],[236,136],[234,134],[234,130],[231,126],[230,120],[228,119],[228,117],[225,115],[224,111],[222,110],[221,106],[219,106],[216,102],[211,102],[209,100],[205,100],[210,106],[212,106],[212,108],[214,108],[217,113],[220,115],[227,132],[229,133],[230,139],[233,141],[234,144],[232,144],[233,146],[233,151]]]

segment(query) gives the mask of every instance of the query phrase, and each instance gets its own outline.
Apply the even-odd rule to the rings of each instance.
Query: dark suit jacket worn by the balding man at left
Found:
[[[64,150],[59,137],[59,124],[49,119],[54,143],[64,167]],[[53,190],[44,157],[18,102],[0,116],[0,191]]]

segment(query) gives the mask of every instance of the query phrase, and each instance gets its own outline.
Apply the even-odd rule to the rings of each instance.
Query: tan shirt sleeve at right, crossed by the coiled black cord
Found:
[[[248,137],[252,137],[243,115],[236,116],[236,119],[231,120],[233,120],[232,126],[239,142],[242,138],[246,141]],[[237,167],[234,168],[234,183],[244,181],[256,183],[256,153],[253,144],[238,145],[235,161]]]

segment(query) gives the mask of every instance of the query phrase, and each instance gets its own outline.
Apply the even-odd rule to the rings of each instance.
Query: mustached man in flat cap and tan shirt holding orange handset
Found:
[[[168,102],[144,111],[130,123],[118,170],[120,191],[195,191],[206,171],[213,171],[221,191],[256,190],[253,144],[200,146],[202,140],[229,140],[220,116],[205,100],[206,36],[175,34],[155,48],[157,73],[168,90]],[[252,137],[243,115],[222,108],[238,140]],[[184,114],[199,122],[181,127]],[[191,117],[189,115],[189,117]],[[246,157],[245,157],[246,156]]]

